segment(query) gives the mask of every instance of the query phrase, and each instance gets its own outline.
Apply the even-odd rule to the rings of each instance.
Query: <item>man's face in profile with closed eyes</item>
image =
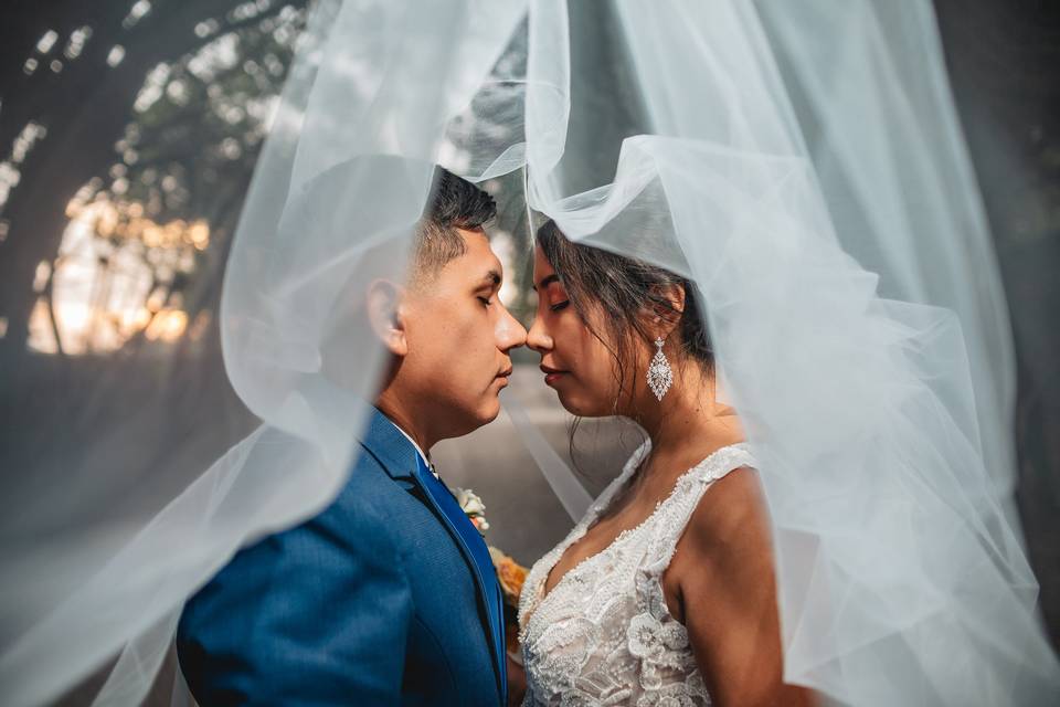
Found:
[[[404,302],[407,354],[400,376],[410,404],[432,418],[436,437],[467,434],[500,412],[511,374],[509,351],[527,331],[498,297],[500,261],[481,230],[457,230],[465,252],[422,275]]]

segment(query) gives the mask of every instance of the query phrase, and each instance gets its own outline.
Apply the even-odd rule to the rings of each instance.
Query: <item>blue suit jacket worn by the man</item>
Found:
[[[506,700],[496,578],[475,571],[412,443],[369,410],[336,500],[239,552],[184,606],[178,656],[203,707]]]

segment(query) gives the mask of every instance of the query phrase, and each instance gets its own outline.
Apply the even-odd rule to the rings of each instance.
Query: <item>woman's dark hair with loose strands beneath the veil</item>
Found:
[[[675,352],[678,366],[696,363],[713,373],[710,333],[695,283],[637,258],[574,243],[551,219],[538,229],[537,241],[566,289],[574,310],[614,357],[621,390],[628,390],[628,374],[636,373],[635,337],[649,344],[655,340],[646,327],[648,313],[669,315],[678,320],[667,339],[667,356]],[[675,309],[666,297],[675,285],[685,289],[683,312]],[[598,316],[593,316],[594,313]],[[600,326],[605,330],[601,331]]]

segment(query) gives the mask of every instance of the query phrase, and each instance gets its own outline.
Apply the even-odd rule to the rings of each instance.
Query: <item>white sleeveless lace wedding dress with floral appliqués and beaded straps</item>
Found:
[[[519,639],[527,671],[523,706],[710,705],[685,626],[670,615],[662,573],[711,484],[754,466],[743,444],[724,446],[685,472],[640,525],[579,562],[548,594],[549,572],[622,488],[650,443],[626,462],[566,538],[527,576]]]

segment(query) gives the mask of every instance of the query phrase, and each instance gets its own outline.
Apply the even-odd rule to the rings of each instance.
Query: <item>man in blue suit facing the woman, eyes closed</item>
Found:
[[[389,366],[349,481],[242,550],[184,608],[181,669],[211,705],[502,705],[501,594],[432,445],[494,420],[526,330],[497,298],[492,199],[436,168],[409,282],[369,285]],[[444,471],[443,471],[444,473]]]

